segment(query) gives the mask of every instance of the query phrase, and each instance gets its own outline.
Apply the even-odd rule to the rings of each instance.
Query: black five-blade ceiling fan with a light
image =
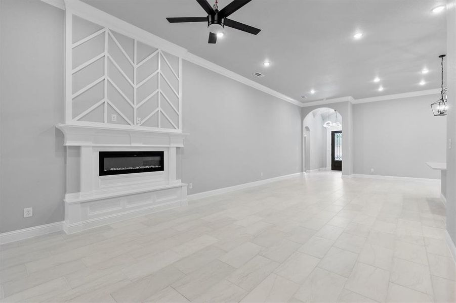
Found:
[[[181,23],[181,22],[208,22],[209,29],[209,41],[208,43],[216,43],[217,37],[222,37],[224,34],[225,26],[232,27],[247,33],[258,34],[261,29],[246,25],[227,17],[251,2],[252,0],[234,0],[229,5],[219,11],[218,0],[215,1],[213,7],[208,3],[207,0],[196,0],[196,2],[208,13],[206,17],[172,17],[167,18],[170,23]]]

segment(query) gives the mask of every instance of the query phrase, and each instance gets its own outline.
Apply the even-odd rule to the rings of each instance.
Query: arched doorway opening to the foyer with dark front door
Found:
[[[303,171],[342,170],[342,115],[317,108],[303,120]]]

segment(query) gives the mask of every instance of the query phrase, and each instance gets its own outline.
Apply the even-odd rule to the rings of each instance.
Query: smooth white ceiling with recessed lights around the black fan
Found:
[[[446,20],[444,12],[431,10],[442,0],[253,0],[230,18],[261,32],[254,36],[226,28],[217,44],[207,43],[205,23],[170,24],[165,19],[205,16],[193,0],[84,1],[303,102],[440,87],[438,55],[446,49]],[[219,0],[219,8],[229,2]],[[358,30],[364,36],[354,40]],[[264,60],[271,62],[268,68]],[[424,67],[427,75],[421,74]],[[375,76],[382,79],[384,91],[377,90]],[[418,84],[422,79],[426,85]]]

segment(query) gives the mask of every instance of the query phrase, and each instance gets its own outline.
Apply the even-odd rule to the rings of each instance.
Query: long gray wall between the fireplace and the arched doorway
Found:
[[[189,194],[301,171],[299,107],[187,61],[182,81]]]

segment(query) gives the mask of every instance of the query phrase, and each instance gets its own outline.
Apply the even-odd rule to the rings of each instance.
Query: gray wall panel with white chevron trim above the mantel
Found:
[[[70,8],[66,18],[67,124],[182,131],[182,58]]]

